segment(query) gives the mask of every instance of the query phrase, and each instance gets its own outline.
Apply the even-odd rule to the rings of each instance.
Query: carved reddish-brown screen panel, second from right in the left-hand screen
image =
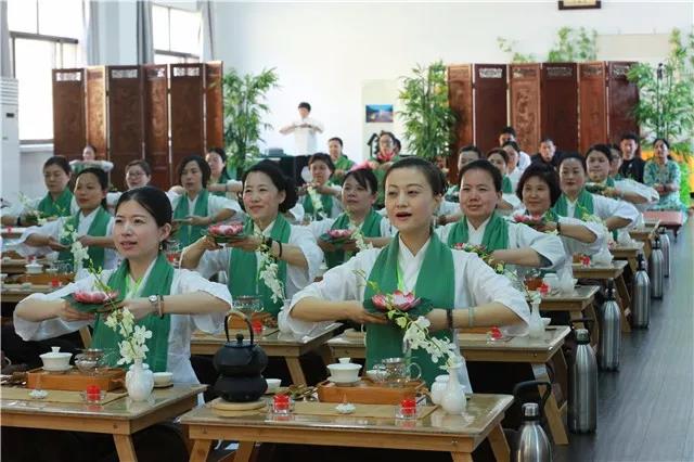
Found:
[[[203,120],[205,69],[204,64],[171,64],[169,72],[171,163],[176,168],[187,155],[205,155]]]

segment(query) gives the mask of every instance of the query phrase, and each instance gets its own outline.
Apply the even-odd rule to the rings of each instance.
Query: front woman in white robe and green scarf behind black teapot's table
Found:
[[[393,279],[397,273],[398,290],[416,288],[417,296],[428,296],[436,307],[421,312],[430,321],[430,332],[450,335],[460,328],[499,325],[510,333],[524,334],[529,318],[524,296],[476,255],[450,249],[432,232],[430,217],[444,194],[439,175],[436,167],[420,158],[394,164],[386,174],[385,185],[388,218],[399,230],[397,239],[382,249],[360,252],[345,265],[327,271],[321,282],[296,294],[291,306],[280,313],[281,329],[306,335],[322,323],[338,319],[367,324],[371,339],[367,343],[367,367],[371,367],[380,357],[390,354],[390,349],[400,350],[401,333],[399,342],[383,346],[377,345],[382,342],[378,333],[369,334],[372,329],[388,328],[396,330],[397,336],[398,328],[386,325],[382,316],[364,307],[364,299],[370,299],[365,294],[371,288],[367,288],[363,278],[378,283],[385,281],[378,280],[381,275]],[[389,265],[395,269],[390,270]],[[360,272],[364,275],[359,275]],[[437,305],[442,299],[448,299],[450,306]],[[423,370],[428,368],[428,375],[423,377],[430,382],[436,371],[432,365],[436,363],[417,351],[412,354],[419,355],[416,361]],[[463,375],[471,389],[466,373]]]

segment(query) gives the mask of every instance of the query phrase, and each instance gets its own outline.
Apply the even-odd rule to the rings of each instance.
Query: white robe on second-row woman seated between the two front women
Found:
[[[274,221],[262,231],[262,235],[269,236]],[[257,226],[255,226],[255,230],[256,232],[259,231]],[[321,261],[323,261],[323,251],[316,244],[316,239],[306,227],[292,226],[288,244],[296,245],[301,249],[306,261],[308,261],[308,268],[299,268],[287,264],[286,285],[284,287],[286,299],[292,298],[294,294],[313,282],[313,279],[318,275]],[[210,278],[219,271],[227,272],[231,260],[231,247],[223,247],[219,251],[205,252],[195,270],[204,278]],[[260,261],[259,252],[256,252],[256,260]],[[247,268],[247,270],[258,272],[257,267],[255,269]],[[233,284],[234,275],[227,274],[227,277]]]

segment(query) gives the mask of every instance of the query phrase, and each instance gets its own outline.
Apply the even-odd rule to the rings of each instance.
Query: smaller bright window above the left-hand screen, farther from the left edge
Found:
[[[156,64],[200,62],[201,15],[163,4],[152,5]]]

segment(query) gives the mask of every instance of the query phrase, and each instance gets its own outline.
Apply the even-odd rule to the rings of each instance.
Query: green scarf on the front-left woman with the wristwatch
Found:
[[[128,279],[130,278],[130,266],[128,260],[124,260],[118,269],[116,269],[108,278],[108,286],[118,294],[127,295]],[[169,265],[163,253],[156,257],[154,267],[150,271],[144,286],[139,294],[132,297],[147,297],[150,295],[170,295],[171,283],[174,282],[174,267]],[[97,315],[94,323],[94,336],[92,338],[91,348],[101,348],[104,351],[118,351],[118,342],[123,337],[119,333],[105,324],[108,315]],[[159,318],[155,313],[150,313],[139,321],[137,325],[142,325],[146,330],[152,331],[152,338],[145,341],[145,345],[150,349],[147,351],[147,363],[153,372],[166,372],[167,359],[169,352],[169,331],[171,329],[171,315],[164,315]],[[108,365],[115,367],[119,355],[104,355]]]

